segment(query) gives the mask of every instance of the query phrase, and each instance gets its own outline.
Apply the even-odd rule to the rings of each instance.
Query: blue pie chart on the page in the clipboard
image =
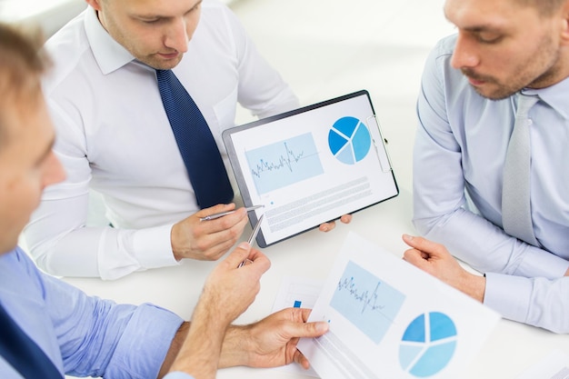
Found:
[[[330,151],[340,162],[354,165],[364,159],[372,145],[367,126],[355,117],[340,118],[328,133]]]

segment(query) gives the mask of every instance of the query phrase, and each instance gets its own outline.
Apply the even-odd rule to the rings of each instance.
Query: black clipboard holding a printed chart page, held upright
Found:
[[[367,91],[227,129],[222,134],[260,247],[399,194]]]

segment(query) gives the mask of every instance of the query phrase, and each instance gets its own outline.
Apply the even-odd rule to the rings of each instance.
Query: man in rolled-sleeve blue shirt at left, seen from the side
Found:
[[[231,322],[259,291],[264,254],[240,244],[218,264],[186,323],[154,306],[115,304],[83,294],[37,270],[16,247],[43,189],[64,179],[42,95],[36,46],[0,25],[0,377],[214,378],[218,367],[307,367],[297,337],[326,323],[305,323],[288,309],[239,327]],[[246,260],[241,268],[239,263]],[[169,374],[168,374],[169,373]]]

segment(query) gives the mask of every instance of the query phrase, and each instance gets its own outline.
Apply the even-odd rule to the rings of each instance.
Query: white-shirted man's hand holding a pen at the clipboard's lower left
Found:
[[[200,221],[200,218],[234,209],[235,204],[218,204],[174,224],[170,240],[175,259],[215,261],[225,254],[243,234],[248,222],[245,208],[215,220]]]

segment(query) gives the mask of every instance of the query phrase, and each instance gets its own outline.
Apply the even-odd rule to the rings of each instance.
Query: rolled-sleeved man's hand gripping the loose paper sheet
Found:
[[[220,367],[247,365],[276,367],[296,362],[310,364],[296,344],[300,337],[317,337],[328,331],[328,323],[306,323],[310,309],[286,308],[255,324],[231,326],[225,334]]]

